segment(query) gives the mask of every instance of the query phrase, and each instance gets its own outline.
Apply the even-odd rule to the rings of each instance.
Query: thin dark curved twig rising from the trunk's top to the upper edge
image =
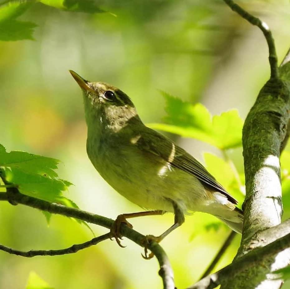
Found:
[[[274,39],[272,36],[272,32],[269,29],[269,26],[264,22],[261,21],[258,17],[254,17],[250,13],[246,12],[242,7],[240,7],[238,4],[236,4],[232,0],[224,0],[226,4],[235,12],[237,12],[241,17],[249,21],[251,24],[258,26],[261,31],[263,32],[268,48],[269,48],[269,63],[270,63],[270,69],[271,69],[271,78],[278,78],[279,77],[279,71],[278,71],[278,59],[276,54],[276,48]]]

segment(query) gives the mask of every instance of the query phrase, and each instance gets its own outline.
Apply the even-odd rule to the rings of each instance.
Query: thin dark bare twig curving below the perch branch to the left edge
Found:
[[[9,254],[14,254],[22,257],[35,257],[35,256],[56,256],[56,255],[64,255],[64,254],[71,254],[76,253],[79,250],[83,250],[90,246],[96,245],[101,241],[107,240],[110,238],[110,233],[104,234],[102,236],[96,237],[91,239],[90,241],[84,242],[82,244],[75,244],[66,249],[59,249],[59,250],[30,250],[27,252],[15,250],[3,245],[0,245],[0,250],[5,251]]]

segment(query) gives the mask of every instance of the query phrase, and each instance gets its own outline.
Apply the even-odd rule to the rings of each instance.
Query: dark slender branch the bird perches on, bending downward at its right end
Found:
[[[6,196],[4,196],[6,195]],[[0,199],[1,200],[8,200],[8,196],[7,193],[0,193]],[[23,195],[19,192],[19,190],[16,188],[16,190],[14,190],[13,193],[11,193],[9,195],[9,199],[13,200],[16,203],[22,204],[22,205],[26,205],[26,206],[30,206],[32,208],[36,208],[42,211],[47,211],[50,212],[52,214],[59,214],[59,215],[63,215],[63,216],[67,216],[67,217],[73,217],[79,220],[83,220],[85,222],[88,223],[92,223],[92,224],[96,224],[96,225],[100,225],[102,227],[105,228],[111,228],[112,224],[113,224],[113,220],[103,217],[103,216],[99,216],[96,214],[92,214],[86,211],[82,211],[76,208],[71,208],[71,207],[67,207],[67,206],[63,206],[60,204],[56,204],[56,203],[50,203],[48,201],[44,201],[44,200],[40,200],[37,199],[35,197],[30,197],[27,195]],[[135,242],[136,244],[140,245],[141,247],[144,247],[144,239],[145,236],[138,233],[137,231],[129,228],[128,226],[126,226],[125,224],[122,224],[120,227],[120,232],[121,235],[123,235],[124,237],[132,240],[133,242]],[[162,278],[163,281],[163,288],[164,289],[174,289],[174,275],[173,275],[173,270],[171,268],[169,259],[165,253],[165,251],[162,249],[162,247],[152,241],[149,244],[147,244],[147,248],[154,253],[154,255],[156,256],[159,266],[160,266],[160,270],[159,270],[159,275]]]

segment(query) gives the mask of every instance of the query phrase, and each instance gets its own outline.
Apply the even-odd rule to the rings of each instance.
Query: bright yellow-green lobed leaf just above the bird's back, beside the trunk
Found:
[[[191,104],[162,92],[166,99],[166,124],[151,123],[148,126],[195,138],[219,149],[230,149],[242,145],[243,120],[237,110],[211,116],[202,104]]]

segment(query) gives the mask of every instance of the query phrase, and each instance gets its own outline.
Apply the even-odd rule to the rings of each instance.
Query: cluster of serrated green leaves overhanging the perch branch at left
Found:
[[[27,152],[6,152],[0,145],[0,167],[4,168],[5,178],[8,182],[18,187],[19,191],[27,196],[36,197],[45,201],[59,203],[64,206],[78,208],[74,201],[63,196],[63,192],[72,185],[71,182],[57,178],[57,165],[59,160]],[[47,223],[51,214],[42,212]],[[91,230],[88,224],[76,220]],[[94,234],[94,233],[93,233]]]

